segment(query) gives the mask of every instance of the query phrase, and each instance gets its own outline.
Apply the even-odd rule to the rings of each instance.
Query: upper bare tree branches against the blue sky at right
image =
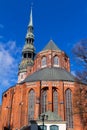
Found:
[[[79,65],[76,75],[80,80],[87,82],[87,39],[75,44],[73,54]]]

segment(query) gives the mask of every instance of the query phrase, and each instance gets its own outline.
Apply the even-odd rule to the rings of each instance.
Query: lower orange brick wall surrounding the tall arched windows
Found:
[[[41,85],[41,86],[40,86]],[[10,88],[3,95],[2,104],[2,125],[10,126],[12,129],[21,128],[22,126],[28,125],[28,94],[31,89],[35,91],[35,114],[34,119],[37,119],[40,114],[40,89],[48,87],[47,91],[47,110],[52,111],[52,87],[55,85],[58,91],[58,115],[65,120],[65,98],[64,93],[67,88],[72,90],[74,93],[75,84],[73,82],[62,82],[62,81],[40,81],[24,83],[16,85]],[[63,104],[60,104],[63,102]],[[77,117],[74,118],[74,130],[78,130],[80,120]],[[77,127],[78,126],[78,127]],[[81,130],[81,128],[79,128]]]

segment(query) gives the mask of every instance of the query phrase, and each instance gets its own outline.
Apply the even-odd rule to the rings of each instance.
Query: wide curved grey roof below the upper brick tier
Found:
[[[43,68],[28,76],[23,82],[29,81],[75,81],[75,77],[71,73],[62,68]]]

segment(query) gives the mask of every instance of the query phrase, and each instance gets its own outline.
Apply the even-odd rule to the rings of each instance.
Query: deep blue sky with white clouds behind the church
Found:
[[[71,50],[87,38],[87,0],[0,0],[0,104],[2,93],[17,82],[31,3],[36,52],[53,39],[74,72]]]

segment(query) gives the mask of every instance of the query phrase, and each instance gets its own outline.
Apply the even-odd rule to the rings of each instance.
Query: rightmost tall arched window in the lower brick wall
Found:
[[[72,92],[67,89],[65,92],[66,97],[66,121],[67,127],[73,128],[73,115],[72,115]]]

